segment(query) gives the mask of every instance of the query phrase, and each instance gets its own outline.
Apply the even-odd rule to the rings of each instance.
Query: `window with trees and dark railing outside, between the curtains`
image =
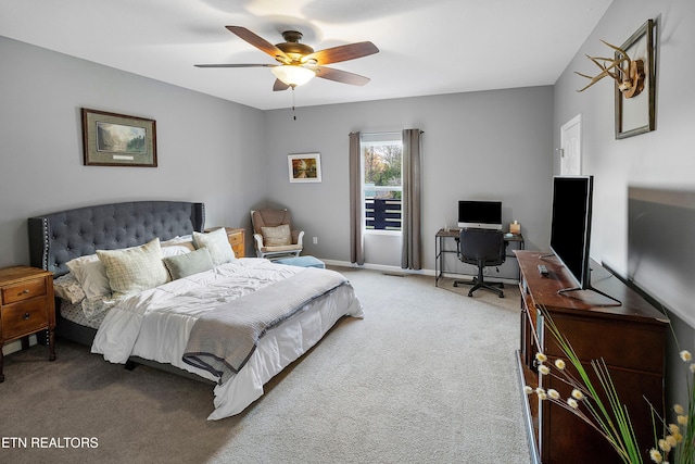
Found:
[[[361,151],[365,230],[400,234],[403,196],[401,134],[363,134]]]

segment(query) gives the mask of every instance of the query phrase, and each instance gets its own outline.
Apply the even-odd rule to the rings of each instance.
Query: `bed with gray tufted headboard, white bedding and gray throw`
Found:
[[[204,213],[136,201],[30,217],[29,252],[53,273],[58,337],[208,381],[208,419],[219,419],[261,398],[340,318],[364,313],[339,273],[233,258],[224,228],[203,231]]]

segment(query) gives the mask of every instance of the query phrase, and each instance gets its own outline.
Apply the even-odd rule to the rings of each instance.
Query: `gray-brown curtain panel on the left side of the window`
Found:
[[[350,134],[350,262],[358,265],[365,263],[359,133]]]

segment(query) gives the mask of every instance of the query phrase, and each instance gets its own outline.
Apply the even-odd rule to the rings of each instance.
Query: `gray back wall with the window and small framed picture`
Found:
[[[267,201],[283,204],[318,244],[306,252],[350,261],[348,134],[417,127],[422,138],[424,267],[434,268],[434,235],[455,225],[457,201],[498,199],[503,221],[522,225],[527,248],[547,249],[553,174],[553,88],[532,87],[268,111]],[[320,152],[323,181],[290,184],[288,153]],[[393,258],[393,256],[391,256]],[[383,261],[380,261],[383,260]],[[370,264],[392,264],[366,256]],[[396,256],[400,265],[400,256]]]

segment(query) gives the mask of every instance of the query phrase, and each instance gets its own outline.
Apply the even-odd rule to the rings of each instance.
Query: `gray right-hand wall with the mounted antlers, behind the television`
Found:
[[[605,53],[606,49],[599,39],[621,45],[647,18],[658,20],[657,129],[615,140],[612,83],[601,81],[578,93],[574,90],[583,87],[585,80],[573,72],[593,72],[595,66],[584,54]],[[629,246],[630,190],[681,192],[682,198],[691,199],[695,191],[695,155],[691,140],[695,127],[695,88],[690,83],[690,76],[695,71],[695,62],[691,59],[695,48],[694,25],[695,2],[691,0],[615,0],[555,85],[555,147],[559,147],[559,127],[574,115],[582,114],[583,172],[593,174],[596,184],[592,255],[627,277],[633,277],[630,275],[633,271],[629,268],[630,253],[633,252]],[[557,170],[557,159],[555,164]],[[695,209],[692,200],[685,206],[692,214]],[[670,227],[673,225],[662,224],[660,229]],[[659,227],[655,230],[659,230]],[[668,236],[654,235],[652,243],[655,249],[660,249],[664,247],[662,240],[673,240],[674,248],[683,250],[674,253],[675,259],[688,255],[685,250],[695,246],[692,230],[680,230],[674,237],[665,237]],[[648,246],[648,240],[644,244]],[[668,273],[654,273],[649,278],[642,278],[640,284],[658,300],[667,302],[681,347],[693,350],[695,334],[682,318],[692,321],[695,317],[695,290],[692,285],[695,263],[680,263],[677,268],[683,269],[680,277],[690,283],[682,287],[690,287],[690,293],[685,297],[673,299],[672,294],[665,291],[672,288],[669,281],[672,276]],[[683,303],[680,306],[669,305],[669,301]],[[686,373],[678,360],[678,347],[672,340],[669,341],[667,397],[668,404],[671,404],[678,398],[681,401],[687,401],[687,398],[683,381]]]

